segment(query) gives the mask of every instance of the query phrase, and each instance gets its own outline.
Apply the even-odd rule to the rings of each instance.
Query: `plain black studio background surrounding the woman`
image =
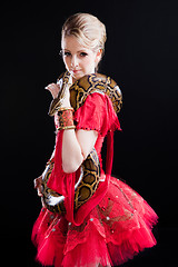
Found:
[[[126,266],[177,266],[178,3],[176,0],[50,1],[1,9],[1,240],[4,260],[38,266],[31,245],[40,211],[33,190],[55,145],[43,88],[63,71],[60,30],[76,12],[97,16],[108,40],[100,72],[123,95],[112,174],[159,216],[158,245]],[[103,150],[105,155],[105,150]],[[176,264],[177,263],[177,264]]]

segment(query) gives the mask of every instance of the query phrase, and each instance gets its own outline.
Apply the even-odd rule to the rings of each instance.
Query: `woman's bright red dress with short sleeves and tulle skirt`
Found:
[[[77,172],[67,175],[61,169],[62,131],[58,134],[55,168],[48,186],[66,197],[67,214],[41,209],[32,231],[37,260],[55,267],[121,265],[144,248],[156,245],[151,228],[158,217],[140,195],[110,176],[113,130],[120,130],[120,125],[109,97],[98,92],[89,95],[73,119],[77,129],[98,131],[95,148],[100,164],[107,135],[106,175],[102,170],[93,196],[73,211]]]

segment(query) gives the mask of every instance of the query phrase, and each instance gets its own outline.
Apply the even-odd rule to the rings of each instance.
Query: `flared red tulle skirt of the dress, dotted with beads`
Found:
[[[37,260],[55,267],[121,265],[156,245],[157,219],[141,196],[111,177],[107,195],[80,226],[42,208],[32,231]]]

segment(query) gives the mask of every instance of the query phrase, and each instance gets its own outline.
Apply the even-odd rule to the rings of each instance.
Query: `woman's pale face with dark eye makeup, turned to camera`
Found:
[[[65,66],[71,71],[73,81],[85,75],[95,73],[95,68],[101,58],[100,50],[93,51],[83,47],[73,36],[65,37],[61,47]]]

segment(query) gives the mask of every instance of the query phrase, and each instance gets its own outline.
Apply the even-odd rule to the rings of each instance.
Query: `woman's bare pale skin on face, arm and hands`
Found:
[[[72,82],[85,75],[95,73],[95,68],[101,59],[101,50],[96,51],[79,43],[76,37],[67,36],[61,40],[62,58],[66,69],[72,73]],[[57,83],[50,83],[46,87],[53,98],[57,98],[60,87]],[[71,107],[69,100],[69,88],[62,101],[62,107]],[[56,117],[56,123],[58,118]],[[87,156],[92,150],[98,132],[95,130],[65,130],[62,140],[62,169],[65,172],[75,172]],[[51,157],[53,157],[55,151]],[[41,194],[42,175],[34,179],[34,188],[38,196]]]

